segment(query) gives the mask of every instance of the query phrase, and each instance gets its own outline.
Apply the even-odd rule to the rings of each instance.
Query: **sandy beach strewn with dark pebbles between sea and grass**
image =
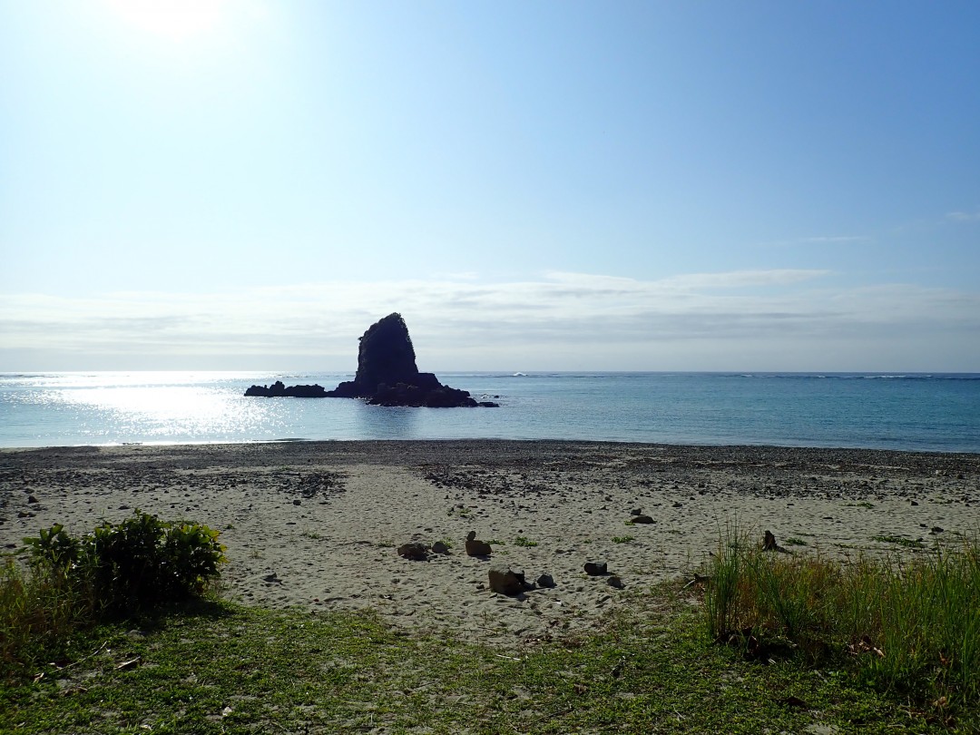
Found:
[[[135,509],[220,529],[229,599],[372,608],[514,646],[588,630],[632,592],[691,574],[726,524],[841,558],[956,543],[980,529],[980,456],[492,440],[0,450],[6,551]],[[489,558],[466,555],[470,531]],[[448,552],[427,561],[397,553],[438,541]],[[622,588],[585,574],[590,561]],[[498,564],[555,586],[496,594]]]

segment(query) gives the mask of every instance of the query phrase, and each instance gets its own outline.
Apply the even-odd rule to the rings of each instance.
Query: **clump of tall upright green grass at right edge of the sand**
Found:
[[[716,641],[811,662],[845,657],[869,684],[937,708],[980,701],[980,540],[910,558],[837,562],[719,534],[705,594]]]

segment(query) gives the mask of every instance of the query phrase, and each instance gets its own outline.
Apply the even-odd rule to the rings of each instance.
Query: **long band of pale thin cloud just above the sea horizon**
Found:
[[[741,270],[640,280],[556,271],[505,283],[323,282],[98,298],[8,294],[0,296],[0,357],[185,356],[196,368],[195,361],[215,356],[222,356],[221,367],[236,356],[264,356],[271,366],[287,357],[306,366],[348,366],[368,324],[397,311],[429,366],[521,365],[534,356],[562,368],[574,356],[584,365],[591,359],[597,367],[654,369],[676,356],[720,360],[750,349],[819,356],[821,349],[839,350],[842,339],[858,351],[887,339],[914,355],[922,335],[930,344],[949,335],[959,352],[980,361],[980,295],[909,285],[845,288],[827,283],[828,275]]]

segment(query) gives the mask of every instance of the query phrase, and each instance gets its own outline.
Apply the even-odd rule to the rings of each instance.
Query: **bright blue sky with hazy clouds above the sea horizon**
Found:
[[[980,371],[977,28],[0,0],[0,371]]]

